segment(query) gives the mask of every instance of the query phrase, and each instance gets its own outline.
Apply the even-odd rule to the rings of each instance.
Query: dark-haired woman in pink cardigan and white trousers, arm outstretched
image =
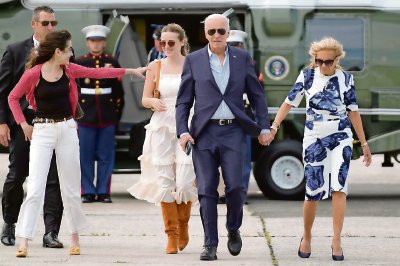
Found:
[[[70,64],[71,47],[68,31],[49,33],[37,52],[32,54],[28,69],[8,97],[15,121],[21,125],[25,139],[31,141],[27,196],[16,228],[16,235],[21,239],[17,257],[27,256],[28,240],[34,237],[53,150],[71,234],[69,253],[80,254],[78,233],[85,230],[88,224],[81,209],[79,140],[75,122],[78,90],[75,79],[114,78],[124,74],[144,78],[141,73],[145,68],[96,69]],[[36,112],[34,126],[25,121],[19,105],[19,99],[24,95]]]

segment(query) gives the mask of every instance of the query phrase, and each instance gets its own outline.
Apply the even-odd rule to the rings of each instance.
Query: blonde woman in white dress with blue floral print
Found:
[[[311,44],[309,69],[301,71],[272,124],[277,129],[292,107],[306,98],[303,139],[306,196],[303,207],[304,233],[298,255],[311,255],[311,229],[318,202],[332,197],[332,259],[344,260],[341,232],[346,210],[347,174],[353,150],[351,125],[361,142],[364,163],[371,164],[355,93],[353,75],[339,65],[343,46],[333,38]]]

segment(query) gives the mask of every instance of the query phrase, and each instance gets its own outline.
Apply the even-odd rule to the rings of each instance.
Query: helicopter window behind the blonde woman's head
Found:
[[[364,23],[359,18],[314,17],[306,21],[306,43],[331,36],[343,44],[346,52],[340,65],[349,71],[364,68]]]

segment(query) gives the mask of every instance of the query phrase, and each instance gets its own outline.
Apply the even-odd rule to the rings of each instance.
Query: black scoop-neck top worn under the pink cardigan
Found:
[[[40,73],[39,83],[35,89],[36,117],[63,119],[71,117],[72,110],[69,102],[69,79],[65,72],[62,77],[50,82]]]

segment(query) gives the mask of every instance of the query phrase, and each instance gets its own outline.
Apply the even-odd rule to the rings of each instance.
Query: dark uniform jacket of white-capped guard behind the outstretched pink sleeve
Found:
[[[77,58],[76,63],[91,68],[104,67],[106,64],[110,64],[110,66],[114,68],[120,68],[117,59],[108,54],[94,56],[89,53]],[[117,124],[121,117],[124,104],[124,91],[121,80],[117,78],[81,78],[80,85],[82,88],[93,90],[93,92],[96,88],[111,88],[111,93],[96,95],[81,92],[79,95],[79,103],[85,116],[79,119],[79,124],[91,127],[103,127]]]

